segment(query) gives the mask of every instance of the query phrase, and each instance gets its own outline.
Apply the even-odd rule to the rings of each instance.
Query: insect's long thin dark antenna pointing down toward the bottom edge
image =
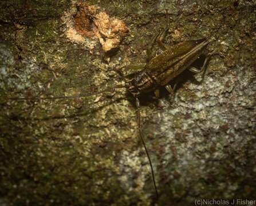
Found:
[[[154,185],[155,192],[156,192],[156,199],[158,199],[158,192],[157,192],[157,188],[156,188],[155,175],[154,175],[154,172],[153,172],[153,167],[152,167],[151,159],[150,159],[150,157],[149,157],[148,150],[147,150],[147,148],[146,148],[146,145],[145,145],[145,142],[144,142],[144,139],[143,139],[143,135],[142,135],[142,132],[141,132],[141,124],[140,124],[140,101],[139,101],[139,99],[138,99],[137,97],[136,97],[136,106],[137,106],[137,121],[138,121],[138,129],[139,129],[140,139],[141,139],[142,144],[143,144],[143,146],[144,146],[145,153],[147,154],[147,157],[148,157],[149,165],[150,165],[150,168],[151,168],[152,179],[153,179],[153,185]]]

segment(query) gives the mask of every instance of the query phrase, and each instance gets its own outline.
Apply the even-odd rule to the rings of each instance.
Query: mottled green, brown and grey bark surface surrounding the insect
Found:
[[[256,2],[88,3],[129,28],[109,63],[96,39],[79,43],[66,37],[64,12],[76,13],[75,1],[0,2],[0,204],[255,199]],[[120,81],[113,68],[145,62],[147,43],[166,25],[165,9],[171,22],[166,45],[207,37],[208,50],[222,57],[211,58],[200,84],[200,76],[184,74],[174,101],[164,89],[160,103],[152,93],[141,97],[160,195],[156,203],[136,107],[124,89],[74,100],[6,98],[111,88]]]

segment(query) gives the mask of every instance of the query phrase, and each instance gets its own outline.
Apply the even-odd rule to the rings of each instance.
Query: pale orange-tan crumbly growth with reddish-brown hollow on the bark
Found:
[[[66,37],[70,41],[86,43],[86,38],[90,38],[91,41],[99,39],[103,50],[108,52],[120,45],[121,39],[129,30],[123,21],[109,17],[107,13],[99,10],[99,6],[74,2],[62,19],[68,27]],[[96,45],[96,42],[93,45]],[[92,46],[88,47],[92,49]]]

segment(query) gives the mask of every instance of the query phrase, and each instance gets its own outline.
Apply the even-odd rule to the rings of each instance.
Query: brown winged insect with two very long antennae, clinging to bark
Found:
[[[182,75],[184,70],[190,70],[193,73],[202,73],[204,75],[207,67],[207,62],[210,59],[210,56],[206,55],[204,58],[204,63],[201,69],[197,69],[193,66],[193,62],[198,60],[202,55],[206,54],[206,47],[209,43],[206,38],[201,38],[197,40],[190,40],[181,43],[177,43],[172,46],[166,46],[163,43],[164,38],[166,38],[168,29],[169,29],[169,18],[167,18],[167,25],[162,32],[159,32],[152,38],[152,41],[149,43],[147,48],[147,60],[144,66],[139,65],[128,65],[127,68],[135,70],[135,72],[124,76],[119,69],[113,69],[120,78],[123,80],[124,84],[116,85],[114,88],[105,89],[97,93],[87,93],[80,94],[77,96],[59,96],[59,97],[33,97],[33,98],[18,98],[10,97],[8,100],[54,100],[58,98],[78,98],[78,97],[87,97],[96,95],[99,93],[108,92],[109,90],[118,90],[118,89],[127,89],[135,99],[136,102],[136,113],[137,113],[137,130],[139,133],[140,140],[143,144],[149,166],[151,169],[153,187],[155,189],[156,198],[158,198],[157,184],[154,175],[153,164],[150,159],[147,147],[145,146],[145,141],[143,137],[143,132],[141,130],[141,106],[140,106],[140,96],[141,94],[154,92],[155,97],[159,98],[160,92],[159,88],[166,88],[168,93],[172,96],[174,95],[176,86],[179,84],[179,81],[176,81],[176,77]],[[162,50],[162,53],[157,56],[153,56],[152,49],[153,46],[158,45]],[[171,86],[171,83],[174,83],[174,86]]]

